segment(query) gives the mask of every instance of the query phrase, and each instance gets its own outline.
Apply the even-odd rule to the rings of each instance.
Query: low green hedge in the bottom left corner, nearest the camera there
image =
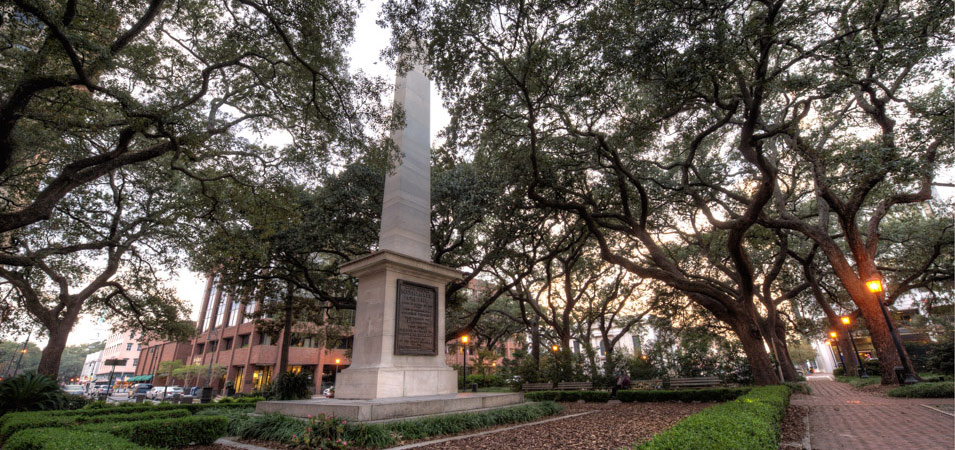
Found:
[[[109,433],[63,428],[31,428],[18,431],[3,446],[4,450],[147,450]]]

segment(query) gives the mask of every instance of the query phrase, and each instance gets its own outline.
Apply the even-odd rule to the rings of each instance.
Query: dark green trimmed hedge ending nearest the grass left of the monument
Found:
[[[209,445],[222,436],[229,420],[222,416],[191,416],[140,422],[98,423],[79,427],[103,432],[147,447]]]

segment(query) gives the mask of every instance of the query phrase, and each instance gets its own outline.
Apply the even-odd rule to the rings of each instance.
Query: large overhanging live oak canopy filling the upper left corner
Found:
[[[0,232],[130,164],[199,181],[250,160],[361,151],[384,91],[347,71],[357,3],[16,0],[0,40]],[[293,138],[250,148],[232,139]],[[95,141],[96,145],[76,145]],[[270,143],[268,139],[261,142]],[[221,175],[221,174],[220,174]]]

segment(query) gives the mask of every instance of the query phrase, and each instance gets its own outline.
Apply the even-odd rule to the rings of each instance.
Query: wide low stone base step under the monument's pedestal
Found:
[[[280,413],[294,417],[326,414],[357,422],[377,422],[480,411],[523,402],[524,394],[520,392],[469,392],[374,400],[322,398],[264,401],[256,403],[255,412],[258,414]]]

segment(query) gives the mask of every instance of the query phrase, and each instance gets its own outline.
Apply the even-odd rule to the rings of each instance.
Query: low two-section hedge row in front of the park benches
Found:
[[[617,400],[621,402],[726,402],[747,392],[750,388],[715,388],[681,390],[623,390],[617,391]],[[536,391],[527,392],[524,398],[533,401],[550,400],[555,402],[606,402],[610,400],[607,391]]]

